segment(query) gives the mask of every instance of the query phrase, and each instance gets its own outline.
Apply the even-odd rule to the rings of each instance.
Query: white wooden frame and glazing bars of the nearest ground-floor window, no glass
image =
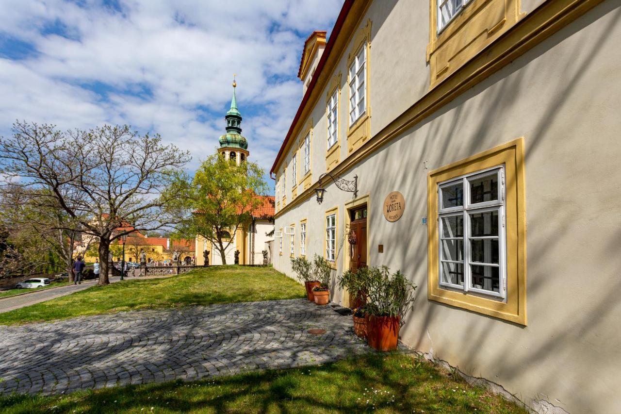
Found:
[[[471,203],[470,202],[470,186],[469,180],[474,180],[479,177],[484,177],[486,175],[490,175],[491,172],[496,172],[498,176],[498,195],[497,200],[492,201],[484,201],[481,203]],[[474,173],[469,173],[462,175],[460,177],[451,178],[450,180],[446,180],[445,182],[438,183],[438,284],[443,288],[450,288],[453,290],[460,290],[465,293],[476,293],[478,295],[483,295],[485,297],[496,297],[501,300],[507,299],[507,254],[506,254],[506,244],[507,244],[507,230],[505,223],[505,183],[504,183],[504,165],[486,168],[485,170],[480,170]],[[462,206],[457,207],[448,207],[444,208],[442,205],[442,191],[443,188],[448,186],[452,186],[461,182],[463,193],[463,203]],[[471,220],[469,215],[472,213],[485,213],[487,211],[498,211],[498,236],[481,236],[481,237],[471,237]],[[463,217],[463,235],[461,237],[444,237],[444,229],[442,224],[442,218],[450,217],[450,216],[461,216]],[[498,264],[492,263],[483,263],[483,262],[473,262],[471,260],[471,240],[472,239],[498,239],[499,244],[499,254],[498,254]],[[443,249],[442,249],[442,241],[443,240],[463,240],[463,252],[462,252],[462,260],[448,260],[443,259]],[[453,264],[461,264],[463,266],[463,286],[455,283],[444,282],[443,281],[443,262],[445,263],[453,263]],[[483,288],[474,288],[471,286],[472,280],[472,272],[471,265],[485,265],[489,267],[498,267],[499,268],[499,290],[500,292],[494,292],[492,290],[485,290]]]

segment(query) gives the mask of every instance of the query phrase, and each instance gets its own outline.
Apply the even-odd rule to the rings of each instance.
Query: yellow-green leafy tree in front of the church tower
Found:
[[[253,211],[263,204],[258,196],[266,191],[263,170],[256,163],[242,161],[237,165],[212,155],[193,179],[178,173],[174,185],[166,191],[177,195],[177,203],[172,206],[179,218],[174,237],[204,237],[226,264],[225,252],[237,229],[252,219]]]

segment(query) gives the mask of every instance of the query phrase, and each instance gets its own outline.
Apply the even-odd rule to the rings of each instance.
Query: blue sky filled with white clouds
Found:
[[[304,40],[342,0],[2,0],[0,134],[129,124],[214,152],[237,73],[250,158],[266,172],[302,98]],[[273,181],[268,180],[273,188]],[[273,190],[272,190],[273,191]]]

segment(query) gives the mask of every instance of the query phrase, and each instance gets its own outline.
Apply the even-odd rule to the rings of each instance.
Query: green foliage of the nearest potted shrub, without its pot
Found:
[[[367,303],[365,311],[373,316],[400,316],[401,323],[414,302],[416,285],[399,270],[391,274],[386,266],[366,269]]]

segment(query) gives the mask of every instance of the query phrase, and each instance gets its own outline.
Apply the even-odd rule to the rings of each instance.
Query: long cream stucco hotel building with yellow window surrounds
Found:
[[[274,267],[401,269],[405,344],[541,412],[621,412],[620,6],[345,1],[304,45]],[[356,198],[324,178],[318,204],[326,172]]]

